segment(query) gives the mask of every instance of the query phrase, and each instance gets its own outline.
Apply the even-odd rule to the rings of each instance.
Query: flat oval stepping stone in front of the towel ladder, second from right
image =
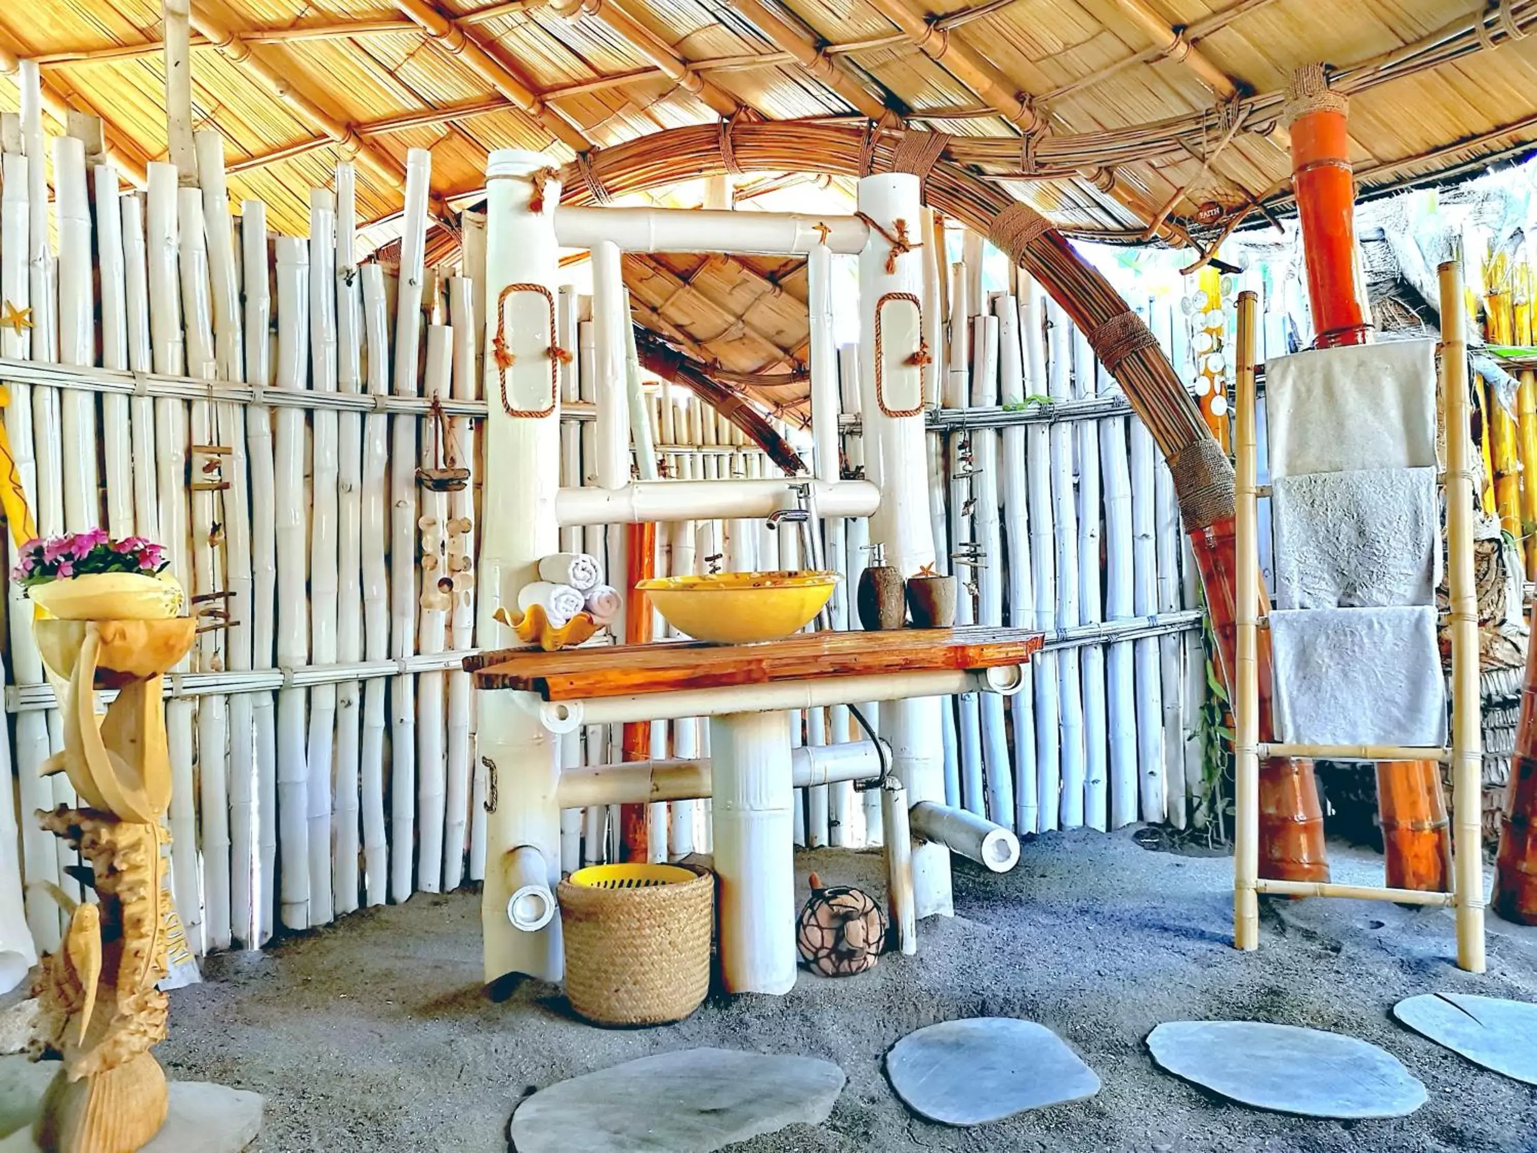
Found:
[[[1259,1021],[1171,1021],[1148,1035],[1174,1076],[1240,1105],[1310,1118],[1402,1118],[1425,1104],[1393,1053],[1343,1033]]]

